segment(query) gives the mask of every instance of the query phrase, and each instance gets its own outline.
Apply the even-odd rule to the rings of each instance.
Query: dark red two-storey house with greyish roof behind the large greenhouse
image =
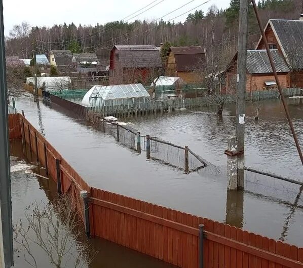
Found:
[[[160,68],[160,52],[154,45],[116,45],[110,51],[109,84],[150,84]]]

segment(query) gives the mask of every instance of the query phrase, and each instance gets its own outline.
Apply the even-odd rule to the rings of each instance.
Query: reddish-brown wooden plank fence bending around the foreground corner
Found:
[[[91,235],[184,268],[199,267],[199,224],[204,224],[204,268],[303,268],[303,248],[228,224],[91,188],[49,142],[21,116],[10,114],[11,138],[23,138],[57,181],[60,160],[63,193],[73,193],[83,217],[82,189],[90,193]],[[19,124],[20,122],[20,124]],[[47,158],[45,159],[44,143]]]

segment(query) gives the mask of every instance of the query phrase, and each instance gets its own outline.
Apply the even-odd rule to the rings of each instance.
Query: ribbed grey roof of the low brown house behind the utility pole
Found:
[[[271,50],[277,72],[289,72],[289,68],[278,50]],[[266,50],[247,51],[247,71],[249,73],[273,72]]]

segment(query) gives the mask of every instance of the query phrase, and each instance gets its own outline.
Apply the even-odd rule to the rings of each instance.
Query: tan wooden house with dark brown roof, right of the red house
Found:
[[[205,53],[200,46],[171,47],[168,54],[166,75],[178,76],[186,83],[203,80],[202,69],[205,67]]]

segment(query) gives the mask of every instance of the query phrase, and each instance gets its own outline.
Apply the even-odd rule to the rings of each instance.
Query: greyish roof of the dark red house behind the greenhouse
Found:
[[[161,66],[160,53],[154,45],[116,45],[113,49],[119,51],[119,61],[124,68]]]

